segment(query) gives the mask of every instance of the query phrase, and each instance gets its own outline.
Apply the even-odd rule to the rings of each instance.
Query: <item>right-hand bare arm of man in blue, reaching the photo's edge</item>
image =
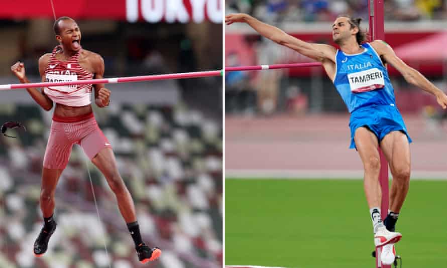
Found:
[[[375,40],[371,43],[374,49],[380,56],[383,56],[385,61],[396,68],[405,78],[405,81],[422,88],[424,91],[436,96],[436,101],[443,109],[447,108],[447,96],[442,90],[437,88],[433,83],[427,80],[420,72],[408,66],[399,57],[396,56],[393,49],[381,40]]]

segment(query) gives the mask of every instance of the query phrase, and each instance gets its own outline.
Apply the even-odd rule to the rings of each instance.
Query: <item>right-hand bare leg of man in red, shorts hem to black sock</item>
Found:
[[[115,193],[118,207],[126,223],[135,222],[137,217],[134,201],[118,172],[113,151],[110,148],[103,148],[91,162],[104,174],[110,189]]]

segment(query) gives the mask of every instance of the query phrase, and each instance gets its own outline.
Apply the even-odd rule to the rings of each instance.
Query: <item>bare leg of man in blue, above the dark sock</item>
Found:
[[[400,131],[391,131],[382,139],[380,147],[393,175],[390,210],[399,213],[410,187],[411,162],[407,136]]]

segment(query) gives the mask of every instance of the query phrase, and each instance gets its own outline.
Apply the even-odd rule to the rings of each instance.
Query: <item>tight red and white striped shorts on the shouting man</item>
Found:
[[[65,169],[74,144],[80,145],[90,160],[102,148],[111,148],[93,113],[75,117],[54,115],[45,150],[44,168]]]

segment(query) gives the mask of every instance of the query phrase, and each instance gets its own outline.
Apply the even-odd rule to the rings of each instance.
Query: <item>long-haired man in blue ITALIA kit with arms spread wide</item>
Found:
[[[443,109],[447,107],[447,96],[399,59],[385,42],[365,43],[360,21],[349,16],[337,18],[332,25],[333,41],[340,46],[337,49],[304,42],[246,14],[231,14],[225,19],[227,25],[246,23],[262,36],[321,62],[351,113],[350,148],[357,149],[364,165],[364,187],[373,221],[374,243],[376,247],[383,246],[382,262],[391,264],[395,257],[394,243],[402,236],[394,229],[410,182],[411,139],[396,107],[385,64],[396,68],[408,83],[433,94]],[[389,213],[384,222],[380,218],[379,145],[393,175]]]

